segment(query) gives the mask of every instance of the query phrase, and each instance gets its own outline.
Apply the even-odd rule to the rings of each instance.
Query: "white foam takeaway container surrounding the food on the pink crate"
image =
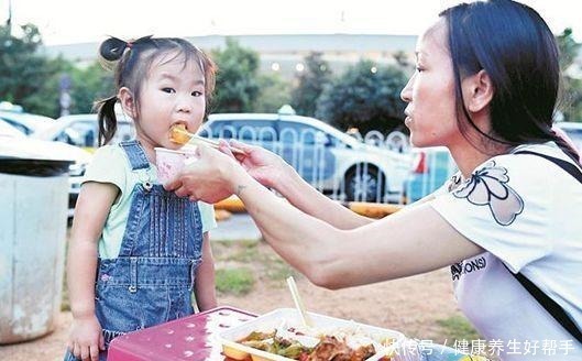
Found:
[[[314,313],[307,314],[311,318],[314,327],[317,329],[358,329],[359,333],[364,333],[377,341],[387,338],[392,338],[395,340],[393,346],[388,348],[383,348],[380,350],[376,348],[376,353],[369,358],[366,361],[377,361],[387,355],[388,353],[394,354],[394,352],[392,351],[398,349],[405,340],[404,335],[395,330],[374,327],[355,322],[353,320],[345,320]],[[222,343],[222,352],[230,359],[234,360],[249,360],[250,357],[252,361],[294,361],[282,355],[265,352],[238,342],[239,340],[249,336],[252,331],[272,331],[277,328],[283,321],[285,321],[286,327],[303,327],[300,316],[297,309],[277,308],[268,314],[259,316],[252,320],[249,320],[237,327],[220,332],[218,337],[220,339],[220,342]],[[392,358],[392,360],[398,360],[398,358]]]

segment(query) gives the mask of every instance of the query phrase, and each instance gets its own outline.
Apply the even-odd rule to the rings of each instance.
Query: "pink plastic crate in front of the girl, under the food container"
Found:
[[[224,360],[217,333],[255,317],[223,306],[130,332],[111,341],[108,361]]]

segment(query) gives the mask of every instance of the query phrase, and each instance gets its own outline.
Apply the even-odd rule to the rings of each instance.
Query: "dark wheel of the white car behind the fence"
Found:
[[[382,201],[386,177],[375,166],[360,164],[345,174],[348,201]]]

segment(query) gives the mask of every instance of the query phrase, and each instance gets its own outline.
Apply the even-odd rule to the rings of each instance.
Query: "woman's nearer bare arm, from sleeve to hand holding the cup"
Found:
[[[213,200],[217,189],[235,193],[275,251],[325,287],[418,274],[483,252],[441,218],[430,203],[355,229],[339,229],[282,201],[234,161],[210,149],[201,150],[196,168],[173,187],[178,196],[207,201]]]

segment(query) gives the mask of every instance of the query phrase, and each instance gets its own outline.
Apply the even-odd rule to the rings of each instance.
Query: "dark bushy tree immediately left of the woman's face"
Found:
[[[339,129],[389,132],[402,125],[406,76],[394,66],[361,61],[328,85],[317,102],[317,117]]]

